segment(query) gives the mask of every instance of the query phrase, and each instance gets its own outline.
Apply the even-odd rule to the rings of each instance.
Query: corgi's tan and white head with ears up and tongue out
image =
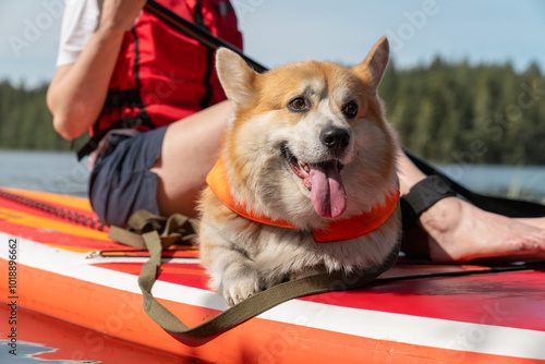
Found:
[[[234,111],[222,157],[235,198],[299,226],[382,202],[396,183],[396,137],[376,93],[387,61],[385,38],[352,70],[308,61],[257,74],[220,49]]]

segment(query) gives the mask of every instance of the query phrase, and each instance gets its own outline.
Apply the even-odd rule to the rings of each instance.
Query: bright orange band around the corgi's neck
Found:
[[[219,159],[206,177],[206,183],[216,197],[233,213],[256,222],[287,229],[296,229],[288,221],[272,220],[268,216],[257,215],[244,203],[235,202],[231,194],[231,185],[222,159]],[[380,228],[396,209],[399,201],[399,189],[385,195],[384,204],[348,219],[332,220],[327,229],[313,230],[314,240],[319,243],[359,238]]]

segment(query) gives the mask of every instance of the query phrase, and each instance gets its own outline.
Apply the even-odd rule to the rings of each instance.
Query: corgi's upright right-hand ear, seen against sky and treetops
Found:
[[[353,72],[370,84],[374,94],[376,94],[378,85],[383,80],[386,65],[388,65],[389,56],[390,46],[388,44],[388,38],[382,37],[373,46],[363,62],[352,69]]]

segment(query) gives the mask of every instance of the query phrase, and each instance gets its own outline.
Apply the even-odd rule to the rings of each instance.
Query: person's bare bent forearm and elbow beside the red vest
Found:
[[[72,64],[60,65],[47,93],[55,130],[66,139],[82,135],[98,118],[123,35],[145,0],[105,0],[100,21]]]

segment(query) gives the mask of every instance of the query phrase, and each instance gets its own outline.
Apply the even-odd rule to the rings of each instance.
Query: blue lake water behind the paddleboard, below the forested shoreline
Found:
[[[545,166],[438,166],[475,192],[543,202]],[[74,153],[0,149],[0,186],[86,196],[86,160]]]

